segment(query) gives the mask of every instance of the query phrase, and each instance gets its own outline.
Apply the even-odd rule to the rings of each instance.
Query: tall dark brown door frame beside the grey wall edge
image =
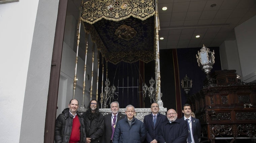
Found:
[[[59,0],[58,16],[55,29],[55,38],[53,45],[52,65],[50,73],[50,83],[46,106],[44,143],[54,142],[54,128],[56,120],[56,110],[58,101],[59,79],[61,56],[63,47],[63,38],[65,30],[65,21],[67,13],[68,0]]]

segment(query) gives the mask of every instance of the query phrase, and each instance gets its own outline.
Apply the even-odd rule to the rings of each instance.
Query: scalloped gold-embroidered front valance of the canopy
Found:
[[[154,0],[91,0],[82,7],[82,20],[90,24],[102,18],[120,21],[133,16],[145,20],[154,14]]]

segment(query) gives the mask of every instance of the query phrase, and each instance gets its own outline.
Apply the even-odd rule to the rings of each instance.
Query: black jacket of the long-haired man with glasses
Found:
[[[92,121],[88,119],[87,112],[85,112],[83,116],[85,122],[86,137],[91,138],[91,143],[101,143],[101,137],[104,134],[103,115],[99,113],[99,116],[94,118]]]

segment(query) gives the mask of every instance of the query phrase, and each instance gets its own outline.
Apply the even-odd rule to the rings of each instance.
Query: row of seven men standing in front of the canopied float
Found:
[[[56,143],[199,143],[200,122],[191,117],[191,106],[185,104],[184,117],[177,119],[174,109],[166,116],[159,113],[159,105],[151,104],[151,114],[143,122],[134,117],[135,108],[127,105],[125,114],[119,113],[119,103],[110,104],[111,113],[103,116],[97,100],[91,100],[87,111],[77,112],[78,100],[72,99],[68,108],[57,117]]]

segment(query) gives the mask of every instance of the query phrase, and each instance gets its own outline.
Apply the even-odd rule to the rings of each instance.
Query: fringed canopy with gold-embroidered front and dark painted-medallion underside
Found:
[[[154,59],[154,0],[91,0],[81,20],[106,61],[117,64]]]

